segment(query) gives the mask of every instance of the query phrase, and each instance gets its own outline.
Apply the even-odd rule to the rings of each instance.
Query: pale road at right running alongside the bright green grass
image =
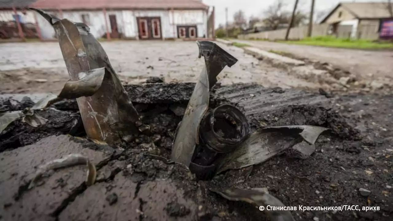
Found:
[[[393,77],[392,51],[324,48],[267,41],[235,41],[247,43],[264,50],[290,52],[300,57],[328,62],[364,78],[369,77],[370,74],[373,74],[375,77]]]

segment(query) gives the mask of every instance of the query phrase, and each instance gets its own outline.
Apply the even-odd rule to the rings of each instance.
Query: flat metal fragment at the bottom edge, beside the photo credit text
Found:
[[[268,192],[261,188],[243,190],[238,188],[227,189],[227,190],[211,190],[212,192],[218,193],[225,199],[231,201],[244,201],[250,203],[257,208],[264,206],[264,212],[270,217],[272,221],[294,221],[294,217],[288,210],[267,210],[267,206],[285,206],[279,199],[270,195]]]

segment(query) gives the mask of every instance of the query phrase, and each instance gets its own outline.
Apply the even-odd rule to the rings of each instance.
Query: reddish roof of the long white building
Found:
[[[31,7],[40,9],[206,9],[200,0],[37,0]]]

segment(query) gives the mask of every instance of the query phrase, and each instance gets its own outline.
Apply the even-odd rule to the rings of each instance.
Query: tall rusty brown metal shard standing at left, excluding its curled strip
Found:
[[[94,94],[90,93],[94,90],[85,91],[86,97],[77,98],[88,137],[113,144],[119,142],[122,136],[138,133],[135,126],[139,119],[138,112],[88,26],[67,19],[60,20],[40,9],[32,10],[46,18],[55,29],[71,81],[89,78],[91,70],[105,70],[97,91]]]

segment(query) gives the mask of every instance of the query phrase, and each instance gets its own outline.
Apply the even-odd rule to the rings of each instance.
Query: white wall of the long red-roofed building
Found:
[[[208,15],[205,10],[122,10],[122,11],[107,11],[105,18],[103,11],[48,11],[61,18],[67,18],[74,22],[83,22],[82,15],[88,15],[90,24],[90,32],[94,37],[103,37],[106,33],[105,19],[107,20],[109,32],[111,32],[109,15],[116,15],[116,22],[119,33],[122,33],[127,38],[138,38],[138,24],[136,17],[160,17],[161,18],[161,29],[162,37],[166,38],[177,38],[177,26],[178,25],[196,25],[198,37],[207,37],[207,23]],[[0,19],[8,19],[12,17],[12,11],[6,13],[6,11],[0,12]],[[37,15],[37,22],[40,27],[42,38],[53,39],[55,38],[55,31],[42,16]],[[29,19],[34,19],[33,12],[29,11]]]

